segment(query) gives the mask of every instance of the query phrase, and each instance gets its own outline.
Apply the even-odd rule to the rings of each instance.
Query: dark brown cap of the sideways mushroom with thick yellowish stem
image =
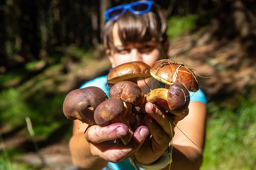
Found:
[[[190,94],[188,89],[181,83],[170,85],[167,93],[167,103],[173,113],[188,110]]]

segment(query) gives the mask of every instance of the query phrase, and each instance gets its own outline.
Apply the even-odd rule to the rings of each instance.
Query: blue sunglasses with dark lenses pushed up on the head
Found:
[[[106,21],[112,21],[124,14],[127,9],[135,15],[146,14],[151,10],[153,1],[137,1],[131,4],[115,6],[105,11]]]

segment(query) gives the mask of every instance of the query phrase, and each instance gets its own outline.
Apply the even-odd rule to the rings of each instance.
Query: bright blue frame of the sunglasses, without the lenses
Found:
[[[127,11],[127,9],[135,15],[146,14],[151,10],[151,7],[152,7],[153,3],[154,3],[153,1],[144,1],[144,0],[142,0],[142,1],[137,1],[137,2],[130,3],[130,4],[118,5],[118,6],[115,6],[113,8],[108,9],[107,11],[105,11],[104,15],[105,15],[106,21],[112,21],[112,20],[116,20],[117,18],[119,18],[120,15],[124,14]],[[135,5],[139,5],[139,4],[147,4],[148,9],[146,9],[144,11],[134,11],[132,9],[132,7],[135,6]],[[123,11],[119,15],[116,15],[115,17],[109,18],[108,15],[111,12],[113,12],[115,10],[118,10],[118,9],[123,9]]]

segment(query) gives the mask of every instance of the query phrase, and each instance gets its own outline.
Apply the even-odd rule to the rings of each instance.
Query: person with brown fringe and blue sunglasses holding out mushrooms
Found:
[[[117,6],[106,11],[105,15],[108,21],[103,41],[112,67],[131,61],[142,61],[151,66],[157,60],[167,58],[169,44],[166,38],[166,20],[155,2],[138,1]],[[154,89],[159,87],[155,80],[152,83]],[[138,85],[145,94],[149,92],[144,80],[138,81]],[[100,87],[108,94],[107,76],[87,82],[81,88],[87,86]],[[149,86],[151,87],[151,82]],[[179,129],[171,131],[169,121],[179,121],[177,126],[203,148],[205,103],[201,90],[193,96],[191,94],[189,114],[187,110],[180,113],[180,117],[167,116],[152,103],[147,103],[145,110],[148,115],[143,120],[145,126],[138,125],[128,145],[114,145],[110,142],[127,134],[125,124],[100,127],[88,126],[75,120],[73,136],[69,142],[73,163],[81,169],[134,169],[128,160],[133,157],[134,163],[142,168],[169,169],[170,160],[163,163],[159,158],[164,158],[162,155],[166,154],[173,139],[171,169],[199,169],[202,163],[200,148],[189,141]],[[156,103],[161,104],[163,103]],[[172,130],[173,128],[174,126]],[[175,133],[173,138],[172,133]]]

